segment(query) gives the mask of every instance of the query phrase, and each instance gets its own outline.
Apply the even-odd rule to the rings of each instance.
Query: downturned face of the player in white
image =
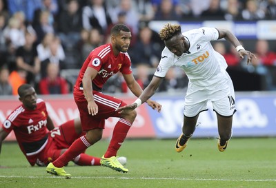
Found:
[[[184,52],[186,52],[185,39],[182,34],[173,36],[172,39],[165,41],[165,45],[168,50],[176,56],[181,56]]]

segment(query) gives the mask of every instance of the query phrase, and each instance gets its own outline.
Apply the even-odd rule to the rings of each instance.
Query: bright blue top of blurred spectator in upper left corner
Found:
[[[34,10],[41,7],[41,1],[37,0],[8,0],[7,3],[10,14],[23,12],[28,23],[32,23],[34,19]]]

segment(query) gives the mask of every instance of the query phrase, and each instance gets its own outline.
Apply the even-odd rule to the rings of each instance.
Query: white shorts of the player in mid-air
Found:
[[[224,79],[208,87],[188,84],[184,103],[185,116],[194,117],[208,110],[208,101],[212,103],[214,111],[221,116],[232,116],[236,112],[233,82],[228,73],[225,73]]]

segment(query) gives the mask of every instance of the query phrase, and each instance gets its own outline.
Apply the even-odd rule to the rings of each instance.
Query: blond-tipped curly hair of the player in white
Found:
[[[178,24],[172,25],[167,23],[164,25],[164,28],[159,32],[159,36],[162,41],[167,41],[168,39],[172,39],[172,36],[176,36],[181,33],[181,27]]]

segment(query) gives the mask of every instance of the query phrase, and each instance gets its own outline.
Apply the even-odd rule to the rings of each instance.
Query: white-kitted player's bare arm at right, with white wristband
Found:
[[[237,37],[232,32],[230,32],[229,30],[222,30],[222,29],[217,29],[217,30],[219,31],[219,39],[224,38],[230,43],[232,43],[237,49],[237,52],[239,53],[240,58],[244,59],[244,56],[247,56],[247,64],[249,62],[252,62],[253,58],[256,59],[255,54],[251,53],[248,50],[245,50],[244,47],[241,45],[241,43],[239,43],[239,40],[237,39]]]

